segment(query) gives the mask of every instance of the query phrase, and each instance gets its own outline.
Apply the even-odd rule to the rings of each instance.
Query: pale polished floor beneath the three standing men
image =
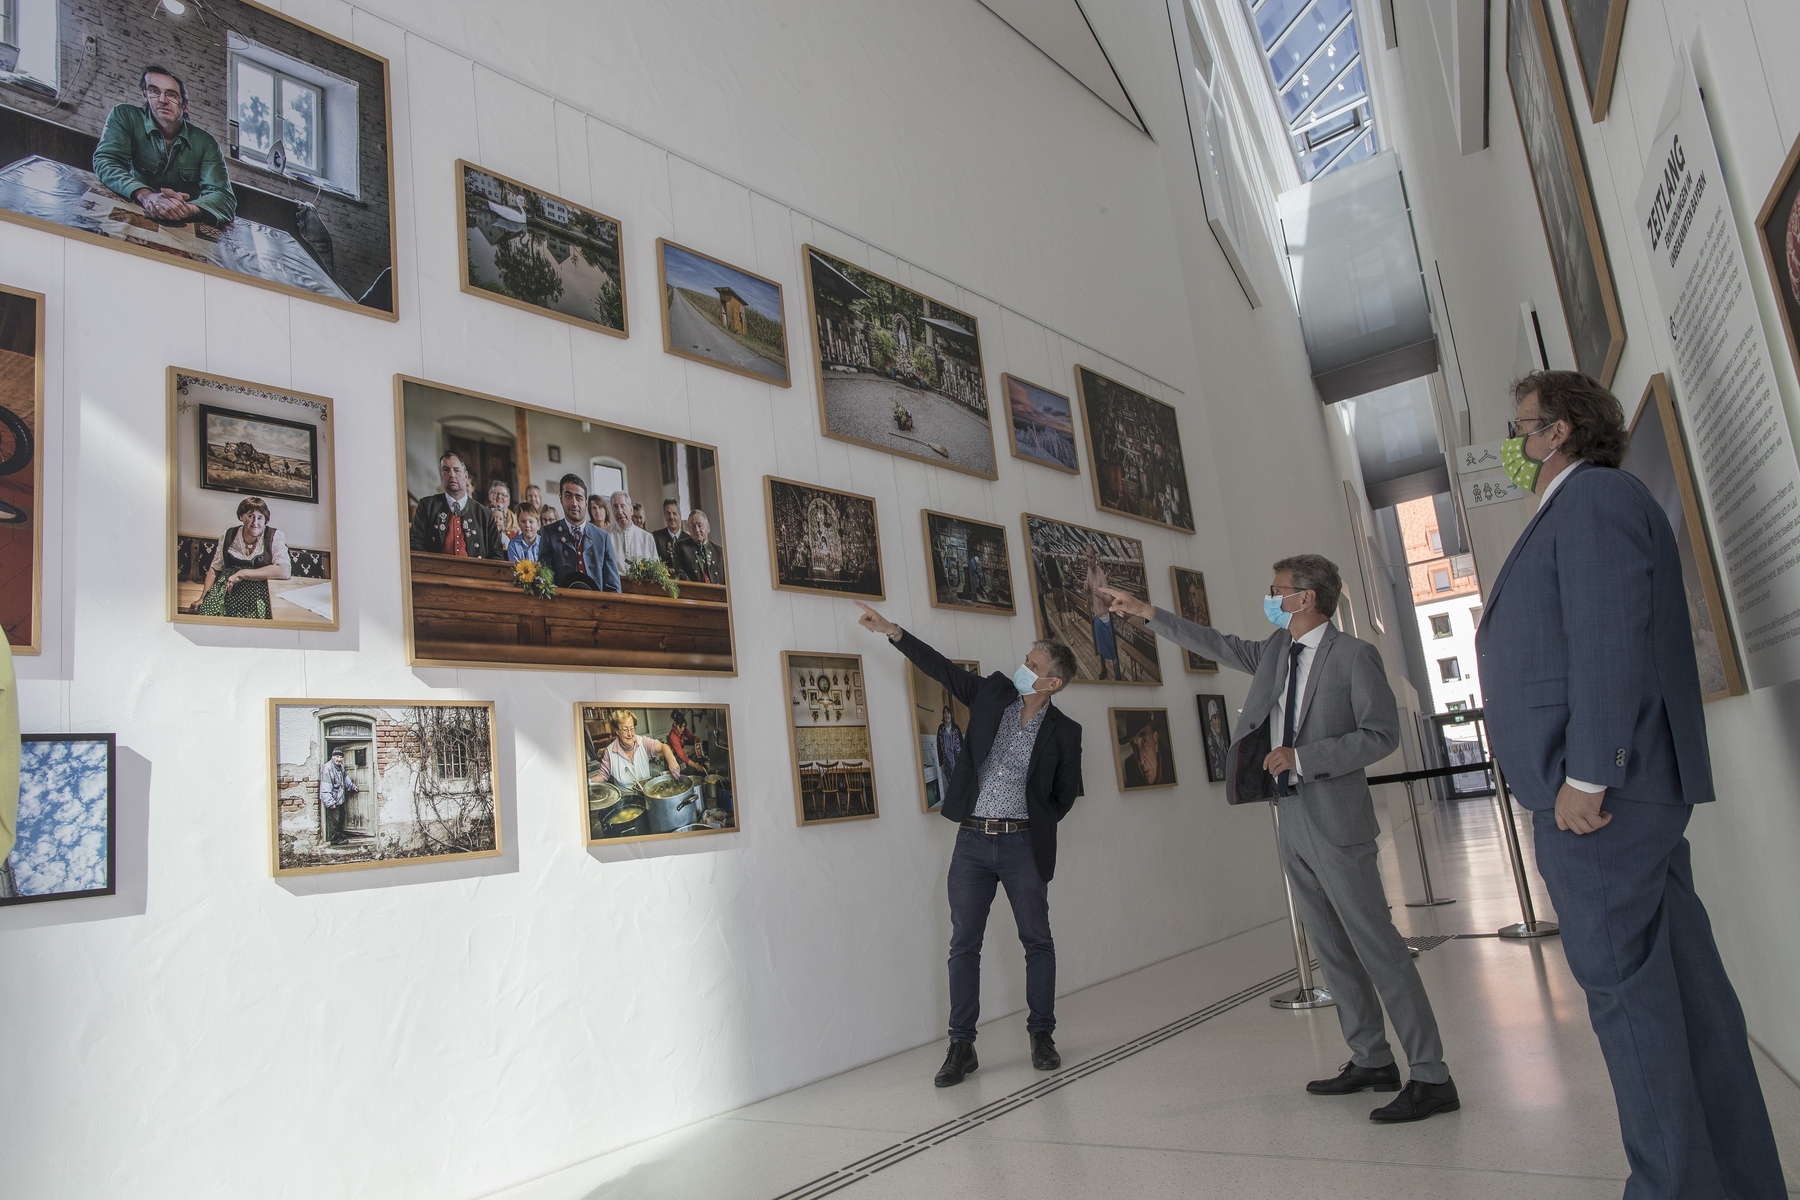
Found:
[[[1294,970],[1282,921],[1060,999],[1062,1072],[1031,1070],[1015,1013],[983,1027],[981,1070],[961,1087],[931,1087],[936,1042],[493,1200],[1616,1198],[1625,1157],[1611,1087],[1561,946],[1492,937],[1519,919],[1496,806],[1427,817],[1435,891],[1456,898],[1438,909],[1404,907],[1422,887],[1399,808],[1382,874],[1400,930],[1429,945],[1418,968],[1458,1114],[1377,1126],[1370,1094],[1303,1090],[1346,1054],[1330,1009],[1264,1000]],[[1532,887],[1553,919],[1535,873]],[[1800,1088],[1757,1061],[1800,1195]]]

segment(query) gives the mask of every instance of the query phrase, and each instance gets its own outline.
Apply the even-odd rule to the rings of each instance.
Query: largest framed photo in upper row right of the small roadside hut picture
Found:
[[[826,437],[999,479],[968,313],[803,246]]]

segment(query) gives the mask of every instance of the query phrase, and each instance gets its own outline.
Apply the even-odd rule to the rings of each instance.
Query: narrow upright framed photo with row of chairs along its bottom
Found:
[[[781,651],[794,819],[801,826],[878,817],[862,655]]]

